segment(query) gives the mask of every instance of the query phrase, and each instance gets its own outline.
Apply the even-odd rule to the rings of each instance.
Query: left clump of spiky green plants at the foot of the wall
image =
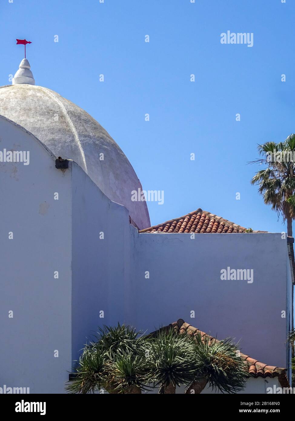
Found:
[[[122,393],[133,386],[144,387],[143,336],[130,326],[104,326],[86,345],[75,371],[77,377],[66,386],[69,393],[94,393],[106,389]]]

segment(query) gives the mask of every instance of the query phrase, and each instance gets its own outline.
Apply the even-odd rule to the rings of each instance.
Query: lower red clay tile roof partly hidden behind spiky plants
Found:
[[[175,330],[179,331],[180,333],[188,332],[190,335],[196,335],[197,333],[200,333],[202,337],[209,338],[209,345],[212,344],[214,341],[217,341],[213,336],[208,335],[205,332],[202,332],[201,330],[198,330],[197,328],[194,328],[193,326],[189,325],[189,323],[184,322],[182,319],[178,319],[177,322],[171,323],[169,326],[165,326],[162,329],[167,329],[173,327]],[[153,332],[153,334],[156,332]],[[258,360],[255,360],[249,355],[240,354],[240,356],[245,360],[245,363],[248,366],[248,371],[251,377],[278,377],[279,383],[282,387],[290,387],[289,381],[287,379],[286,375],[286,369],[275,367],[274,365],[267,365],[263,362],[260,362]]]

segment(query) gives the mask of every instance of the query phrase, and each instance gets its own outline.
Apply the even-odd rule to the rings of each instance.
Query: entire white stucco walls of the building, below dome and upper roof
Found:
[[[151,331],[183,318],[286,367],[291,280],[281,234],[139,234],[76,163],[57,170],[40,141],[0,117],[4,148],[29,150],[30,164],[0,163],[0,387],[63,393],[83,344],[118,321]],[[227,266],[253,269],[253,283],[221,280]]]

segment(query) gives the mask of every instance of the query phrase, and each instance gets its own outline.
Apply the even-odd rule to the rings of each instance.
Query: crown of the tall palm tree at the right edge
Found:
[[[266,142],[258,145],[262,158],[253,163],[266,164],[267,168],[258,171],[251,184],[259,186],[258,192],[264,203],[271,205],[283,221],[287,221],[287,235],[292,237],[292,220],[295,219],[295,207],[288,199],[295,193],[295,134],[284,142]]]

